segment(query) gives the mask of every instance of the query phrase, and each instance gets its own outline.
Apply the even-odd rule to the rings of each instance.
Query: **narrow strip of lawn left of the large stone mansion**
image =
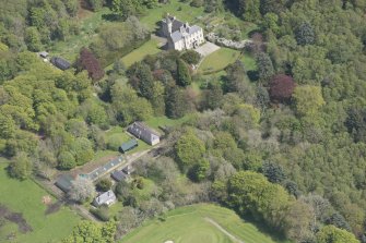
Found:
[[[151,39],[140,48],[133,50],[132,52],[125,56],[121,60],[126,68],[129,68],[134,62],[141,61],[147,54],[156,54],[162,50],[157,47],[158,42],[156,39]]]

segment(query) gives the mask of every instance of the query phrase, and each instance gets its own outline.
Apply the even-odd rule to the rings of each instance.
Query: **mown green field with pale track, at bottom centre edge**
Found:
[[[211,220],[211,221],[209,221]],[[217,223],[217,226],[213,224]],[[226,232],[223,232],[225,230]],[[245,222],[234,211],[208,204],[188,206],[172,210],[166,220],[146,222],[132,231],[121,243],[236,243],[228,236],[245,243],[283,243],[259,231],[252,223]]]

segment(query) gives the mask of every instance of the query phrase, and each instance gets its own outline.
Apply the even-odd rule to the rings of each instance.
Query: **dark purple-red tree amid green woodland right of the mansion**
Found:
[[[278,74],[272,77],[270,83],[270,97],[274,102],[286,102],[291,99],[295,82],[291,76]]]

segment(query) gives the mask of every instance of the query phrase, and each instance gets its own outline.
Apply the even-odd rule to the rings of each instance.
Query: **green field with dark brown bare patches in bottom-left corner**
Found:
[[[69,235],[72,228],[81,220],[80,217],[66,207],[46,216],[47,206],[42,199],[48,193],[32,180],[10,179],[5,172],[7,166],[0,163],[0,204],[14,212],[23,214],[33,231],[20,233],[15,223],[7,221],[4,227],[0,227],[0,242],[48,243],[59,242]],[[52,198],[52,202],[56,199]],[[15,233],[15,239],[9,241],[7,236],[11,233]]]

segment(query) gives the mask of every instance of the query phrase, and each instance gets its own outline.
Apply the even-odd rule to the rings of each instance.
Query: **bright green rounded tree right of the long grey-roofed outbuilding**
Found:
[[[181,169],[187,170],[202,159],[205,147],[192,131],[186,132],[175,145]]]

